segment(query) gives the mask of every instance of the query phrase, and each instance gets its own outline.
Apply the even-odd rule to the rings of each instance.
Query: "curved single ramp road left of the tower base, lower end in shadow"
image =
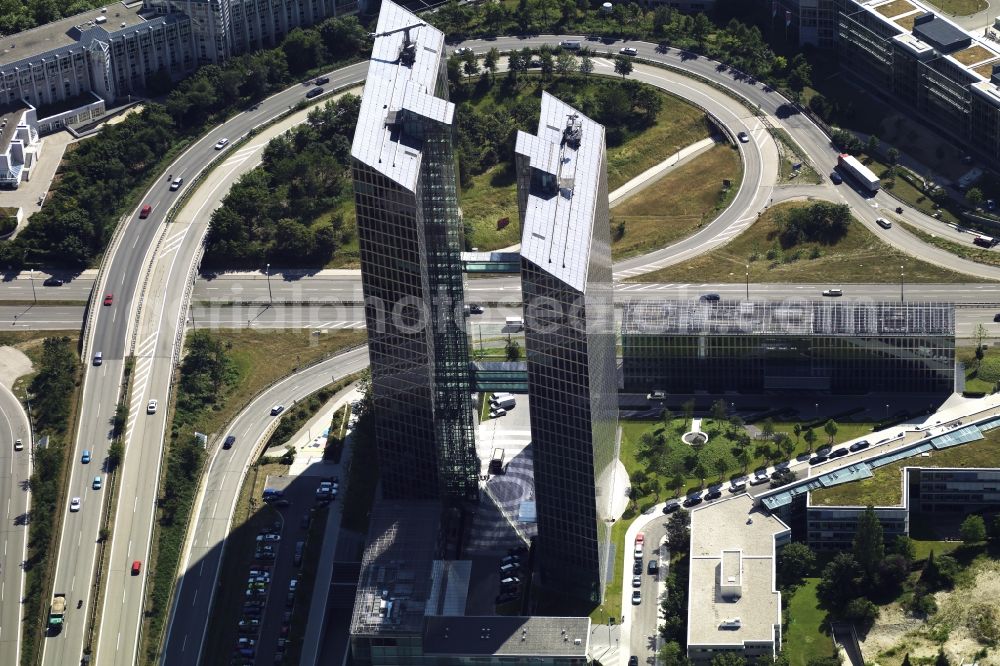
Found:
[[[231,434],[236,443],[228,450],[215,446],[211,454],[203,493],[196,502],[190,549],[184,555],[183,574],[171,609],[163,664],[199,663],[236,497],[262,435],[274,422],[271,405],[290,405],[367,366],[368,348],[359,347],[291,375],[251,402],[218,438],[222,441]]]

